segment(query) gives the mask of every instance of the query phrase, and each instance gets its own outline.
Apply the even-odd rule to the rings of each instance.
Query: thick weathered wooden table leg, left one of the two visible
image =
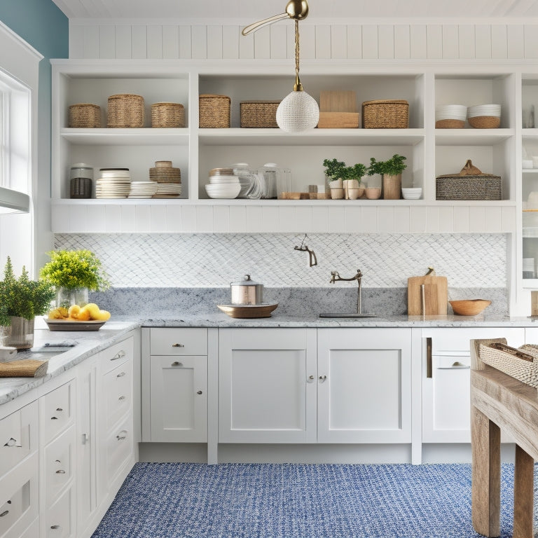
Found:
[[[471,406],[472,519],[476,532],[499,536],[501,516],[501,430]]]

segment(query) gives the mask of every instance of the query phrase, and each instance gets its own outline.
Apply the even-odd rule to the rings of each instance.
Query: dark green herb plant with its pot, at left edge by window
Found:
[[[28,349],[34,345],[34,317],[45,314],[55,296],[54,287],[43,280],[30,280],[25,266],[15,277],[11,258],[0,282],[0,326],[4,345]]]

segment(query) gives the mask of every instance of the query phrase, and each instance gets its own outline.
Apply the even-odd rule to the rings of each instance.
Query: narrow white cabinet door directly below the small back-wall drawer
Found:
[[[207,442],[207,356],[150,357],[151,441]]]

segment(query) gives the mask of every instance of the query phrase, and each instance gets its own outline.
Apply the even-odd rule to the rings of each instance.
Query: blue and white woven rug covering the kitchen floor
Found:
[[[513,465],[502,465],[501,537]],[[478,538],[471,465],[138,463],[93,538]]]

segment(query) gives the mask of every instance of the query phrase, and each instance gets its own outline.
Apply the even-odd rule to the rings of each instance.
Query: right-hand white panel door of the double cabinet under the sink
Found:
[[[411,443],[411,329],[319,329],[318,443]]]

